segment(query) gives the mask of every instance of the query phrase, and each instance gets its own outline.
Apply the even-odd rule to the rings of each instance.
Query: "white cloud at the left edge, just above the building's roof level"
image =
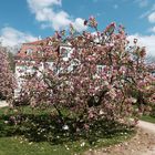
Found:
[[[30,33],[18,31],[11,27],[6,27],[0,30],[0,41],[4,46],[14,46],[24,42],[35,41],[38,38]]]

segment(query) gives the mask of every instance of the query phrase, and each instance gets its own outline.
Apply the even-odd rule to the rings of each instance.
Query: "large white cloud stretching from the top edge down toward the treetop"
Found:
[[[82,23],[83,19],[72,19],[68,12],[61,9],[61,0],[27,0],[27,2],[31,12],[35,14],[35,20],[41,22],[43,29],[51,27],[54,30],[60,30],[70,23],[75,25],[79,31],[86,29]],[[54,7],[59,7],[59,11],[55,11]]]

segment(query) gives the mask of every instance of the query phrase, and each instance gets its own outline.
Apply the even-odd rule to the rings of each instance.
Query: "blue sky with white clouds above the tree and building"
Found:
[[[1,0],[0,40],[12,46],[52,35],[70,23],[82,31],[90,16],[100,30],[113,21],[124,24],[128,38],[138,38],[155,55],[155,0]]]

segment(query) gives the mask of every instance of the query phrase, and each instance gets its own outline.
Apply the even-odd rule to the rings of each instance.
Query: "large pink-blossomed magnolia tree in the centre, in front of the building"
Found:
[[[33,62],[24,62],[33,73],[24,75],[20,99],[27,96],[32,107],[54,107],[61,121],[63,108],[87,122],[137,116],[144,105],[155,103],[145,48],[137,46],[136,39],[130,46],[122,25],[111,23],[99,31],[93,17],[84,24],[93,31],[79,33],[70,25],[70,33],[55,32],[38,46]]]

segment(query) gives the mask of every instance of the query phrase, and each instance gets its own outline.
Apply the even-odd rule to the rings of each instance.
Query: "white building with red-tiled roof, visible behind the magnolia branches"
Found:
[[[43,51],[43,49],[41,49],[42,46],[46,48],[48,50]],[[50,65],[50,69],[52,69],[55,72],[55,74],[56,73],[64,74],[65,71],[63,68],[59,68],[59,70],[54,69],[53,60],[51,58],[52,55],[55,55],[55,56],[61,55],[63,61],[68,61],[71,58],[71,54],[74,48],[72,48],[70,43],[65,43],[65,44],[61,43],[54,50],[53,48],[55,48],[54,42],[52,42],[49,38],[22,44],[20,51],[16,55],[16,78],[17,78],[18,86],[14,91],[14,96],[18,96],[18,94],[20,93],[22,89],[22,84],[24,83],[24,80],[25,80],[23,76],[25,74],[31,74],[35,72],[33,65],[31,64],[35,63],[35,58],[39,58],[40,55],[41,55],[41,61],[39,64],[40,71],[44,71],[45,64],[48,64]],[[45,53],[46,51],[48,53]],[[82,52],[82,48],[79,49],[79,52],[80,53]],[[49,59],[43,61],[43,56],[49,53],[50,53]],[[48,56],[45,55],[45,58]],[[79,65],[80,63],[81,62],[79,61],[79,59],[71,60],[70,65],[66,69],[66,72],[74,71],[76,69],[76,65]],[[103,68],[104,65],[101,65],[101,64],[96,65],[96,72],[97,73],[102,72]],[[41,74],[38,72],[38,75],[41,75]]]

